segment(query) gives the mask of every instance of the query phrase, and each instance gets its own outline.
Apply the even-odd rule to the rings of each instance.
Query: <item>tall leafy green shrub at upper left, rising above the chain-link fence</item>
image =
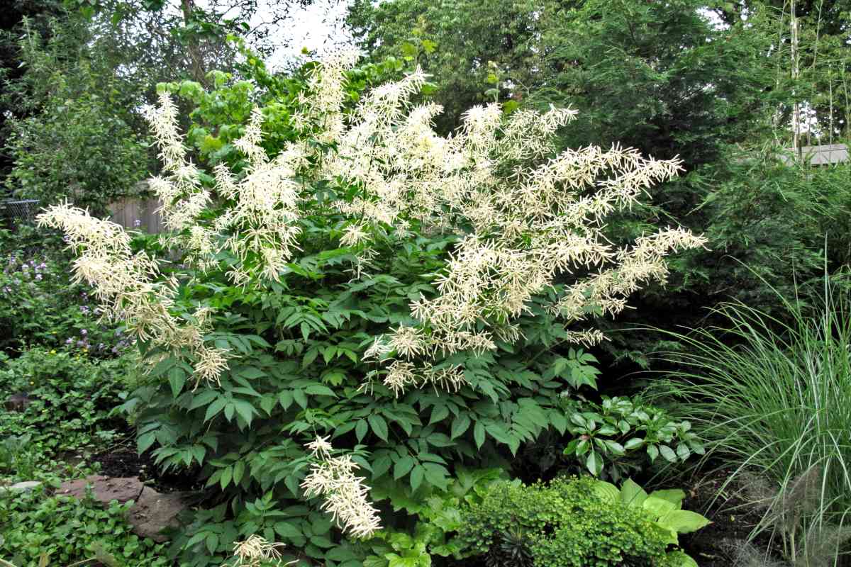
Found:
[[[37,199],[42,207],[72,200],[106,213],[111,202],[138,194],[134,184],[149,158],[126,108],[139,104],[139,93],[121,92],[121,74],[112,75],[117,70],[104,55],[89,50],[91,37],[79,37],[85,30],[81,22],[54,21],[45,40],[25,26],[19,41],[25,72],[9,84],[23,108],[7,121],[3,150],[14,167],[5,184],[14,197]]]

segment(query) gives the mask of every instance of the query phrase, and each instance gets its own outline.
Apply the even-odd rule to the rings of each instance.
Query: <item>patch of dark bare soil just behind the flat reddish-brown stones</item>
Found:
[[[154,462],[151,451],[141,455],[131,449],[116,448],[89,457],[89,462],[100,463],[100,474],[111,477],[136,476],[159,492],[201,490],[197,471],[164,472]]]

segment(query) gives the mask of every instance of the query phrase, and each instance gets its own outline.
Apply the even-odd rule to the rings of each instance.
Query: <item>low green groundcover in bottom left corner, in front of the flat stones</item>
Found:
[[[0,558],[15,567],[166,567],[164,544],[135,536],[125,515],[131,502],[106,507],[91,498],[48,496],[42,488],[0,492]]]

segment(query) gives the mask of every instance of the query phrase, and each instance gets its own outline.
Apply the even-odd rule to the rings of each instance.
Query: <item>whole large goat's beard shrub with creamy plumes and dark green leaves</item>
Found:
[[[454,466],[563,434],[558,396],[595,385],[576,345],[603,339],[581,321],[618,313],[664,281],[669,252],[703,244],[678,229],[630,247],[601,234],[607,213],[675,175],[676,161],[617,147],[546,160],[569,110],[506,119],[477,107],[443,138],[437,105],[408,104],[422,73],[351,105],[353,64],[344,55],[311,72],[288,115],[296,141],[267,155],[265,116],[280,109],[257,109],[233,142],[243,160],[213,175],[187,159],[168,94],[147,111],[163,245],[180,266],[133,252],[120,227],[71,205],[39,219],[65,231],[77,278],[151,363],[124,405],[139,450],[197,469],[223,504],[209,516],[218,527],[182,540],[188,564],[254,533],[307,562],[360,564],[329,528],[333,517],[351,539],[374,531],[364,483],[398,510],[446,490]],[[332,456],[327,439],[350,452]]]

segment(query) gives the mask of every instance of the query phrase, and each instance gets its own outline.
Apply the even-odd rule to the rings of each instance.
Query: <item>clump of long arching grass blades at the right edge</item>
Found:
[[[826,277],[822,290],[815,309],[779,298],[778,318],[722,304],[721,326],[676,335],[687,349],[660,354],[682,370],[652,390],[677,400],[730,482],[768,480],[757,531],[778,534],[797,564],[833,564],[851,536],[851,318],[847,292]]]

